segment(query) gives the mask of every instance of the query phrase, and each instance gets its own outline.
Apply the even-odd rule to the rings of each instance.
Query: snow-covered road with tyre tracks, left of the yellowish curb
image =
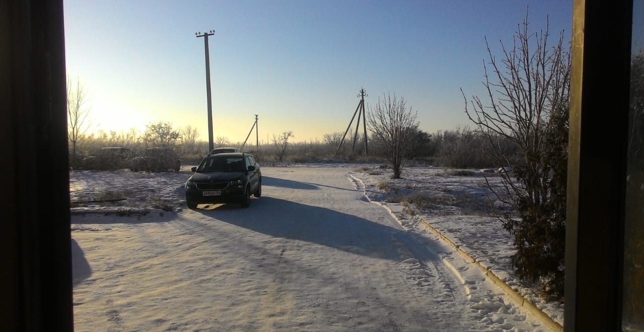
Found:
[[[346,169],[262,171],[247,209],[75,217],[76,331],[543,329]]]

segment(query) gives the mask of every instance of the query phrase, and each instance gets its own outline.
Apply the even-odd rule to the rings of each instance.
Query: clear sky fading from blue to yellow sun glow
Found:
[[[193,125],[207,140],[204,41],[211,36],[214,136],[242,141],[344,131],[391,92],[421,129],[468,125],[466,94],[483,97],[484,37],[510,42],[529,5],[531,30],[572,28],[572,1],[78,1],[64,2],[67,71],[88,93],[97,129]]]

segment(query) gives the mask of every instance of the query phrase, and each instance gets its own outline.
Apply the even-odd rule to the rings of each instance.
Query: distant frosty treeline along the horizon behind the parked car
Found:
[[[287,133],[289,132],[276,134],[270,142],[260,142],[259,147],[255,142],[247,142],[243,151],[252,152],[260,162],[264,163],[307,163],[324,160],[379,162],[385,157],[383,144],[373,137],[368,140],[369,153],[365,157],[363,134],[358,134],[355,145],[353,135],[347,134],[343,145],[337,149],[343,133],[325,134],[322,140],[301,142],[289,142],[294,136],[285,135]],[[174,128],[169,122],[147,125],[144,133],[136,129],[120,133],[98,131],[79,140],[75,158],[70,151],[70,161],[73,163],[75,160],[82,160],[102,147],[127,147],[132,151],[142,151],[147,147],[172,147],[180,155],[183,163],[197,163],[209,152],[208,142],[198,140],[199,137],[196,128],[191,126]],[[214,139],[214,147],[242,149],[242,143],[231,142],[225,136]],[[504,140],[495,143],[502,145],[508,152],[507,155],[517,155],[518,151],[513,143],[504,142]],[[406,155],[407,164],[463,169],[498,167],[494,158],[486,152],[486,146],[490,144],[489,140],[468,127],[431,134],[415,129],[415,140],[412,144]],[[279,158],[280,155],[282,160]]]

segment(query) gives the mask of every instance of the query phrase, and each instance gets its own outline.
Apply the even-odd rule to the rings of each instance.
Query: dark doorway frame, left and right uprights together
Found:
[[[621,329],[631,14],[630,1],[574,0],[567,331]],[[0,0],[8,331],[73,330],[64,50],[61,0]]]

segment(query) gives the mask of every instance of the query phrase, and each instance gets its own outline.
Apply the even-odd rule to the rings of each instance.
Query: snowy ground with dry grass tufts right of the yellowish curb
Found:
[[[393,172],[380,167],[358,167],[353,174],[365,184],[365,194],[373,201],[397,208],[402,219],[410,219],[406,229],[415,229],[417,220],[404,209],[399,199],[422,195],[428,206],[412,205],[415,217],[422,218],[440,233],[450,238],[465,252],[493,271],[511,288],[524,295],[555,322],[564,324],[564,305],[546,301],[535,290],[519,281],[512,273],[510,257],[516,250],[513,239],[489,208],[489,199],[500,212],[504,205],[494,194],[485,190],[484,173],[477,170],[454,170],[439,167],[408,167],[403,179],[392,180]],[[500,177],[485,173],[491,186],[500,185]],[[386,183],[383,189],[383,183]],[[403,211],[404,210],[404,211]]]

